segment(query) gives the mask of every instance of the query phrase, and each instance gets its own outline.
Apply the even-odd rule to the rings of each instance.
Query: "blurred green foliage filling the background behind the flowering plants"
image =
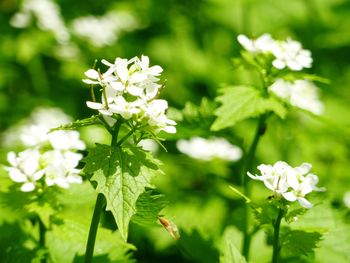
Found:
[[[314,255],[306,255],[298,262],[349,262],[350,213],[342,201],[350,189],[349,1],[57,0],[70,32],[66,42],[58,41],[52,31],[40,29],[35,19],[26,28],[11,26],[10,21],[23,2],[0,1],[0,132],[39,105],[60,107],[75,119],[90,117],[93,112],[85,105],[90,92],[81,82],[83,72],[91,68],[95,59],[112,61],[117,56],[131,58],[145,54],[150,56],[152,64],[161,65],[166,80],[163,96],[173,107],[169,114],[178,117],[178,133],[167,135],[169,141],[164,142],[168,152],[159,152],[157,156],[163,162],[165,175],[156,178],[154,184],[166,195],[168,206],[164,213],[176,222],[183,239],[172,240],[161,225],[134,224],[129,238],[138,248],[134,251],[132,246],[120,243],[119,234],[113,232],[116,226],[112,216],[106,212],[104,228],[99,230],[97,244],[101,252],[96,254],[96,262],[133,262],[133,259],[145,263],[215,262],[214,258],[218,261],[220,255],[222,262],[231,262],[233,258],[243,262],[236,253],[240,248],[238,229],[243,200],[228,188],[228,184],[239,184],[241,161],[193,160],[176,150],[175,140],[217,135],[246,149],[256,121],[210,131],[215,120],[214,98],[224,84],[258,83],[255,73],[234,69],[231,59],[239,54],[238,34],[259,36],[265,32],[275,38],[291,36],[299,40],[313,54],[313,68],[308,73],[327,78],[330,84],[318,84],[326,108],[322,117],[293,112],[284,120],[269,119],[256,163],[285,160],[293,166],[302,162],[313,164],[320,184],[327,188],[329,204],[326,208],[316,206],[310,214],[300,216],[305,217],[300,222],[325,228],[327,234]],[[100,47],[73,33],[75,19],[103,16],[110,11],[132,14],[138,26],[121,32],[115,41]],[[100,28],[102,33],[104,30]],[[95,32],[96,37],[101,32]],[[83,128],[82,136],[89,146],[95,141],[108,143],[107,135],[100,132],[98,128],[93,132]],[[1,163],[6,163],[6,152],[10,150],[14,149],[0,148]],[[49,229],[48,251],[35,249],[38,226],[22,219],[30,218],[22,209],[30,197],[24,197],[23,193],[9,196],[11,187],[7,174],[0,168],[0,261],[38,262],[43,254],[50,252],[52,262],[80,262],[95,198],[91,186],[84,184],[81,189],[70,189],[60,195],[61,208],[56,213],[48,212],[40,203],[32,207],[39,214],[42,211],[45,224],[48,218],[62,224]],[[254,185],[252,199],[264,198],[264,191],[262,186]],[[328,219],[323,220],[324,217]],[[295,236],[291,239],[303,231],[300,222],[295,222]],[[238,229],[227,230],[232,224]],[[316,239],[317,234],[310,233],[305,242],[310,241],[309,245],[313,246]],[[270,248],[266,244],[268,240],[258,232],[251,250],[253,261],[269,261]]]

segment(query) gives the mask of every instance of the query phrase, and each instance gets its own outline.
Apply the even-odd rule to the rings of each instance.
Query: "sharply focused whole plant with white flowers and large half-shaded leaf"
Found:
[[[152,198],[146,188],[153,187],[151,179],[160,173],[159,161],[145,150],[147,147],[144,148],[143,142],[153,139],[160,143],[161,131],[176,132],[176,122],[166,115],[168,102],[158,98],[164,88],[159,83],[163,71],[160,66],[150,66],[149,58],[144,55],[131,59],[118,57],[114,63],[105,59],[101,62],[107,67],[105,71],[89,69],[85,72],[87,78],[83,79],[90,85],[92,95],[92,101],[86,104],[98,112],[97,118],[95,115],[72,124],[99,123],[112,137],[110,145],[97,144],[83,160],[83,172],[97,183],[98,192],[86,246],[86,262],[90,262],[93,255],[104,200],[106,210],[112,212],[122,238],[127,241],[129,222],[134,215],[142,218],[137,215],[137,202],[143,194]],[[95,86],[101,90],[98,100]],[[155,204],[151,202],[150,205]]]

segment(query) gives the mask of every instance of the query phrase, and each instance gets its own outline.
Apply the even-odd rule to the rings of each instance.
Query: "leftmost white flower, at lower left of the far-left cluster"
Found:
[[[35,189],[36,181],[40,180],[44,171],[40,168],[40,153],[37,149],[28,149],[18,154],[7,154],[7,161],[11,167],[6,166],[10,178],[16,183],[23,183],[21,191],[31,192]]]

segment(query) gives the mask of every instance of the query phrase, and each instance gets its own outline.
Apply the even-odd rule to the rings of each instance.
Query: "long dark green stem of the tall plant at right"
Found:
[[[242,177],[241,182],[243,185],[243,193],[246,196],[250,196],[250,187],[247,181],[247,172],[253,169],[254,160],[255,160],[255,152],[259,143],[261,136],[264,135],[266,130],[266,118],[267,115],[261,115],[259,118],[259,123],[257,129],[255,131],[255,135],[252,141],[252,144],[249,148],[249,151],[246,155],[244,166],[242,169]],[[252,233],[249,233],[249,221],[250,221],[250,211],[249,205],[244,204],[243,211],[243,247],[242,254],[245,256],[246,260],[249,258],[249,249],[250,249],[250,241],[252,237]]]

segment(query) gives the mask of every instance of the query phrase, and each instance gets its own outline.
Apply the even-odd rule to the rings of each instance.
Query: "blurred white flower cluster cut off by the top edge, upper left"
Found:
[[[35,17],[41,30],[52,31],[58,42],[67,42],[70,38],[68,29],[61,16],[59,5],[52,0],[25,0],[21,10],[10,21],[14,27],[28,27]]]

